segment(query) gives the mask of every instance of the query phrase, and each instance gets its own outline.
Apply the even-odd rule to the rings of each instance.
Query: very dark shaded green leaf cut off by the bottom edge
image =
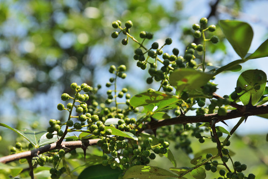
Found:
[[[120,169],[111,169],[110,166],[94,165],[86,168],[78,179],[118,179],[123,171]]]

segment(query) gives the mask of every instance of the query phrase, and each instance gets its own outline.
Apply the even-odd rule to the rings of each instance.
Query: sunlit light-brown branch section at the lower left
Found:
[[[51,151],[51,150],[55,150],[55,149],[63,149],[63,148],[70,148],[70,149],[74,149],[74,148],[82,148],[82,147],[88,147],[88,146],[92,146],[92,145],[96,145],[97,141],[100,139],[90,139],[90,140],[85,140],[85,141],[69,141],[69,142],[62,142],[61,146],[58,146],[57,143],[52,143],[52,144],[48,144],[45,145],[44,147],[40,147],[38,149],[34,149],[31,151],[26,151],[26,152],[21,152],[21,153],[17,153],[17,154],[12,154],[9,156],[4,156],[0,158],[0,163],[8,163],[8,162],[12,162],[12,161],[17,161],[20,159],[29,159],[29,158],[33,158],[36,157],[40,154],[43,154],[45,152]]]

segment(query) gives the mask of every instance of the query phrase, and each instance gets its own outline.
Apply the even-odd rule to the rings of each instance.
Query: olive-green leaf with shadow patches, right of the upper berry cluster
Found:
[[[212,74],[202,73],[194,69],[178,69],[170,75],[170,83],[178,92],[193,90],[207,84]]]

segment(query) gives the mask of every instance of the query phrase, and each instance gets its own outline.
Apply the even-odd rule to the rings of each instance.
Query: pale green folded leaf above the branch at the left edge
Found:
[[[14,129],[6,124],[3,124],[3,123],[0,123],[0,126],[6,127],[8,129],[16,132],[17,134],[21,135],[27,141],[29,141],[35,148],[38,147],[38,144],[39,144],[38,141],[41,138],[41,136],[44,135],[45,133],[47,133],[46,131],[36,132],[36,131],[29,130],[29,129],[23,129],[20,131],[20,130]]]

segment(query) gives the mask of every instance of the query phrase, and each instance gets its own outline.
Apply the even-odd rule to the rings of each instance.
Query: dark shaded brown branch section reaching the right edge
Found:
[[[197,116],[178,116],[170,119],[162,119],[158,121],[153,121],[146,127],[147,129],[156,129],[162,126],[174,125],[174,124],[187,124],[187,123],[197,123],[197,122],[211,122],[212,119],[217,119],[219,122],[233,119],[242,116],[252,116],[252,115],[260,115],[268,113],[268,105],[260,105],[260,106],[245,106],[245,111],[240,111],[238,109],[231,110],[227,112],[227,115],[220,116],[217,113],[214,114],[206,114],[206,115],[197,115]]]

